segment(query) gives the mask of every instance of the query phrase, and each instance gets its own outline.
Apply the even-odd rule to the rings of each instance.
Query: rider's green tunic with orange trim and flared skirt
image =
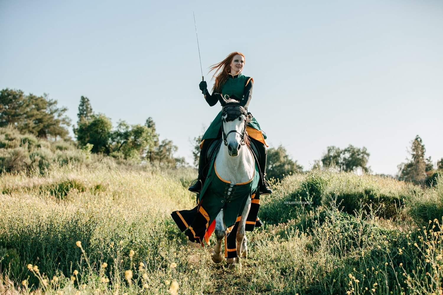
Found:
[[[245,87],[247,84],[253,83],[253,79],[251,77],[247,77],[242,75],[241,73],[238,73],[237,75],[233,76],[231,74],[228,75],[228,80],[226,80],[225,84],[221,87],[221,94],[227,98],[229,97],[236,97],[237,99],[243,100],[249,100],[249,97],[245,97]],[[266,134],[263,132],[263,130],[260,129],[260,124],[257,122],[257,120],[253,117],[251,121],[248,123],[248,126],[260,130],[263,133],[264,139],[266,139]],[[203,134],[203,139],[209,139],[209,138],[217,138],[218,134],[221,129],[221,111],[217,114],[217,116],[214,118],[208,129],[206,130],[205,134]]]

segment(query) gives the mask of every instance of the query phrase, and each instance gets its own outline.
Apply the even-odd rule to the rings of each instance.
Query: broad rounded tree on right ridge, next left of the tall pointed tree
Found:
[[[361,168],[367,173],[370,171],[367,167],[369,155],[365,147],[360,149],[349,145],[345,149],[340,149],[336,146],[328,146],[321,161],[324,166],[335,165],[340,171],[351,172]]]

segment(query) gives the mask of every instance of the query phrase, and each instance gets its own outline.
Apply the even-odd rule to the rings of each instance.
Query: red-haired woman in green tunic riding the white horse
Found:
[[[218,98],[223,97],[238,100],[240,105],[248,109],[249,102],[252,97],[253,78],[246,77],[241,74],[243,66],[245,65],[245,56],[240,52],[233,52],[229,54],[223,61],[211,67],[211,71],[215,70],[215,83],[212,94],[209,93],[206,81],[199,84],[200,90],[205,95],[206,102],[212,107],[218,102]],[[218,73],[220,72],[220,73]],[[260,153],[260,195],[268,195],[272,193],[268,182],[265,180],[266,171],[266,134],[260,130],[260,125],[254,117],[246,127],[249,138],[253,141]],[[221,137],[221,111],[212,121],[208,130],[202,137],[202,144],[200,144],[200,159],[198,161],[198,180],[194,185],[191,185],[189,190],[191,192],[200,193],[203,184],[206,180],[208,172],[208,163],[206,161],[206,152],[210,143]]]

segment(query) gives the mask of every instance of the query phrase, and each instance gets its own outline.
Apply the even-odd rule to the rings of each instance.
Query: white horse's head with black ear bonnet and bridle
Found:
[[[221,97],[221,131],[223,142],[228,147],[228,153],[236,157],[245,143],[248,143],[246,125],[249,121],[248,112],[237,100],[226,100]]]

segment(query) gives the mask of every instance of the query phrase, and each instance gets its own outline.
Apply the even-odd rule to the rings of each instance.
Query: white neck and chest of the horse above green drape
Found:
[[[251,180],[254,176],[254,157],[247,146],[241,146],[237,157],[231,157],[228,147],[221,142],[215,159],[218,175],[231,182],[231,184],[243,183]]]

